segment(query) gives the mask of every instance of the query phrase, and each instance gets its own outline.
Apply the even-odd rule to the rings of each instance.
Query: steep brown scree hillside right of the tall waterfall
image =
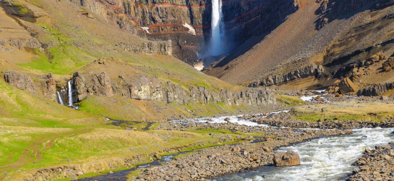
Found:
[[[393,78],[393,1],[299,3],[295,13],[253,48],[244,51],[245,42],[204,72],[233,84],[282,83],[300,89],[338,86],[348,77],[354,88],[344,89],[353,91]]]

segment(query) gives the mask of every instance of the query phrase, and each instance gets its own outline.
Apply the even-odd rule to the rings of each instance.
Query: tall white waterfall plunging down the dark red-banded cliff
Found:
[[[217,56],[223,53],[223,33],[222,2],[212,0],[210,55]]]

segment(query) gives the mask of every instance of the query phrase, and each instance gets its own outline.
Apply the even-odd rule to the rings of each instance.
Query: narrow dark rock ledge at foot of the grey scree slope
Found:
[[[266,79],[257,80],[249,84],[249,87],[258,87],[258,86],[272,86],[275,84],[279,84],[282,82],[287,82],[290,80],[294,80],[297,78],[308,77],[316,74],[320,74],[324,71],[324,67],[322,65],[310,65],[298,68],[294,71],[291,71],[284,75],[269,75]]]

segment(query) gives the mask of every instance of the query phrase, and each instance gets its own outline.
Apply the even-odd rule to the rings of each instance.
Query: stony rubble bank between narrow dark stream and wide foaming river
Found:
[[[224,126],[224,123],[210,126]],[[227,128],[230,128],[230,126],[246,128],[245,126],[234,124],[227,125]],[[143,170],[139,176],[133,177],[133,179],[141,181],[204,180],[210,177],[243,172],[251,168],[271,164],[273,155],[275,154],[273,150],[279,147],[316,138],[314,130],[310,130],[309,133],[306,133],[300,130],[294,132],[286,128],[258,126],[253,128],[253,131],[264,133],[264,142],[242,143],[200,150],[169,161],[164,165],[147,168]],[[324,134],[335,135],[340,132],[339,130],[325,130]],[[346,134],[349,133],[351,133],[351,131],[346,132]]]

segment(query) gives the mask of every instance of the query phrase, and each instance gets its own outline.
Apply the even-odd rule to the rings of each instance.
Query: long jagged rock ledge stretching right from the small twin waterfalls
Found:
[[[74,97],[77,101],[82,101],[87,95],[121,95],[130,99],[176,104],[225,102],[227,105],[250,104],[261,106],[276,103],[275,95],[270,90],[250,88],[238,93],[229,89],[222,89],[217,93],[204,86],[190,86],[187,91],[183,86],[173,84],[173,82],[160,82],[156,76],[148,77],[141,74],[139,80],[130,77],[130,75],[119,77],[123,79],[120,83],[112,81],[106,72],[90,76],[75,72],[72,77],[72,86],[75,88]]]

